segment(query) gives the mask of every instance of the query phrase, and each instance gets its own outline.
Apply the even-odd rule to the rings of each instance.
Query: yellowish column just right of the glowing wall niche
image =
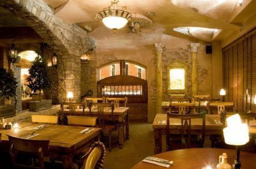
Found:
[[[190,53],[191,53],[191,96],[197,95],[198,91],[198,82],[197,82],[197,53],[199,43],[190,44]]]

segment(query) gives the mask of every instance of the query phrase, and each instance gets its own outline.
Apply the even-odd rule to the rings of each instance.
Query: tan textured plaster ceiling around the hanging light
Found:
[[[108,7],[111,2],[111,0],[45,1],[55,9],[54,12],[58,17],[70,24],[78,23],[82,28],[89,26],[92,28],[92,33],[96,29],[104,27],[102,23],[95,22],[94,18],[99,11]],[[238,0],[120,0],[118,5],[127,6],[128,10],[150,18],[153,25],[161,25],[164,28],[162,34],[165,35],[183,37],[184,34],[173,30],[178,27],[222,30],[214,36],[200,30],[193,36],[195,39],[212,41],[215,39],[222,40],[232,31],[239,30],[239,24],[231,24],[232,19],[239,15],[242,9],[249,6],[252,1],[244,0],[244,4],[239,6]],[[147,31],[148,34],[150,34],[150,31],[154,31],[150,26],[142,28],[143,30]],[[103,28],[102,31],[107,31],[107,28]],[[126,30],[121,30],[121,32],[127,33]],[[185,34],[185,36],[190,35]]]

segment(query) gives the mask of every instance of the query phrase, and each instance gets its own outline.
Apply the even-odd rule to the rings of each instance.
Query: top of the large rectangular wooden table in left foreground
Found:
[[[47,124],[47,127],[35,130],[34,128],[39,125],[42,124],[19,123],[18,129],[1,129],[0,133],[2,133],[2,140],[8,141],[7,135],[19,137],[23,134],[32,133],[35,131],[35,133],[39,135],[34,136],[31,138],[31,140],[50,140],[49,146],[71,147],[88,142],[96,137],[101,131],[100,128],[94,128],[94,130],[92,130],[90,133],[82,134],[80,131],[89,127],[53,124]]]

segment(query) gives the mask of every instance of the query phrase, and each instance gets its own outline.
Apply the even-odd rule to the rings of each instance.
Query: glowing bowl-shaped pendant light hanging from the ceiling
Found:
[[[117,3],[119,0],[112,0],[111,6],[104,8],[103,11],[96,15],[96,21],[103,22],[103,24],[113,30],[123,28],[128,21],[132,20],[132,14],[130,14],[126,7],[119,7]]]

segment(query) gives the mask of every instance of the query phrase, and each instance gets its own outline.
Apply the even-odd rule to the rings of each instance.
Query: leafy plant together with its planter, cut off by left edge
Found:
[[[0,117],[11,117],[14,114],[14,105],[10,99],[16,97],[17,82],[12,73],[0,68]]]

